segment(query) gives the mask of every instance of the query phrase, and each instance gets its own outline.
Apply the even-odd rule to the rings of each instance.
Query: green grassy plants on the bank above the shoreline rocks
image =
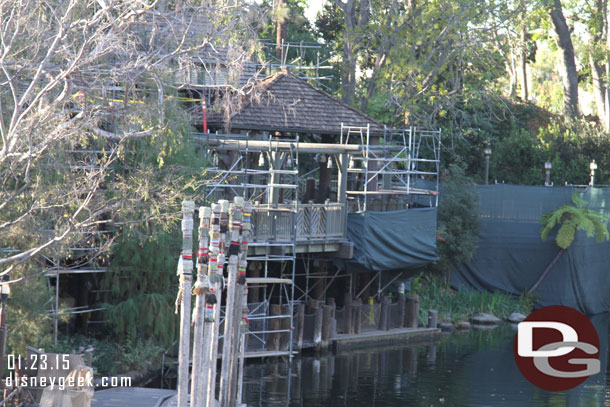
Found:
[[[419,319],[427,322],[429,309],[438,311],[439,321],[469,320],[477,312],[488,312],[506,318],[513,312],[529,314],[536,304],[531,294],[515,296],[503,292],[453,290],[441,276],[426,274],[415,277],[412,291],[419,295]]]

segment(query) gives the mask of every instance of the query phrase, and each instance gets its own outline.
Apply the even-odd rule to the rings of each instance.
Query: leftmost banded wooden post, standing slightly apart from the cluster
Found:
[[[180,289],[176,313],[180,310],[180,344],[178,351],[178,407],[186,407],[189,393],[189,353],[191,338],[191,279],[193,273],[193,201],[182,202],[182,254],[178,262]]]

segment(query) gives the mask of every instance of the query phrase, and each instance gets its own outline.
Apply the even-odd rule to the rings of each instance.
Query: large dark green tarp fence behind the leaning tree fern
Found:
[[[469,264],[451,273],[451,283],[514,294],[531,287],[559,251],[554,235],[541,241],[540,215],[571,203],[574,191],[589,202],[588,208],[610,215],[610,189],[477,187],[482,220],[479,247]],[[536,293],[541,305],[567,305],[587,314],[610,310],[610,243],[597,243],[579,231]]]

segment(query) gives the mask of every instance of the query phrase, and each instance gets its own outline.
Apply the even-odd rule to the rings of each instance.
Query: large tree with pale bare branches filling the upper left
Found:
[[[52,293],[37,277],[107,265],[122,227],[175,224],[179,200],[198,192],[203,161],[186,160],[191,129],[171,115],[174,90],[211,44],[234,56],[228,86],[245,85],[256,7],[228,3],[0,3],[0,275],[22,284],[8,311],[13,349],[49,336]]]

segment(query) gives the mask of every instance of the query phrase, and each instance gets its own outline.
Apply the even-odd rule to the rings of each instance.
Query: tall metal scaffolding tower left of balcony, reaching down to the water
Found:
[[[244,148],[237,150],[228,169],[221,168],[222,152],[212,150],[214,166],[207,171],[214,174],[207,186],[205,199],[215,195],[242,196],[253,201],[253,233],[247,256],[248,263],[260,262],[262,275],[247,279],[250,290],[260,290],[262,301],[248,304],[246,357],[293,356],[294,279],[297,256],[297,215],[299,204],[299,138],[274,139],[268,137],[266,148],[252,151],[247,135],[214,135],[225,140],[242,140]],[[209,140],[208,140],[209,141]],[[279,142],[289,147],[279,148]],[[254,161],[257,160],[257,164]],[[256,166],[256,168],[251,168]],[[261,203],[266,202],[266,203]],[[278,231],[280,233],[278,233]],[[279,277],[270,275],[271,264],[277,264]],[[259,292],[260,292],[259,291]],[[272,312],[271,300],[277,299],[280,315]],[[288,326],[281,322],[288,320]],[[280,322],[280,326],[277,326]],[[279,335],[279,336],[278,336]],[[286,338],[284,340],[280,337]]]

